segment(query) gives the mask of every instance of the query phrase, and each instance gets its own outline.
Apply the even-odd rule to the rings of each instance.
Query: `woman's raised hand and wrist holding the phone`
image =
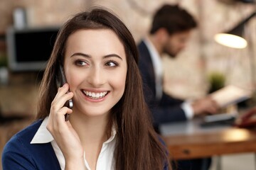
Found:
[[[46,128],[53,135],[55,142],[60,147],[65,157],[66,166],[78,166],[84,164],[84,149],[81,145],[77,132],[73,129],[70,121],[65,121],[65,114],[71,114],[72,110],[65,107],[64,104],[70,98],[73,98],[73,93],[68,92],[68,84],[64,84],[58,89],[53,102],[51,103],[50,115]],[[66,167],[67,168],[67,167]]]

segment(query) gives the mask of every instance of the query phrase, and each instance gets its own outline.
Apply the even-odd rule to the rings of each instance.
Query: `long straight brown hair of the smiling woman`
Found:
[[[138,52],[132,34],[114,14],[102,8],[78,13],[60,29],[52,55],[41,82],[38,118],[46,118],[57,93],[58,61],[63,62],[68,37],[80,29],[110,29],[124,45],[127,78],[122,98],[112,108],[112,121],[117,126],[114,160],[116,169],[164,169],[169,166],[166,148],[152,128],[149,109],[144,101],[142,78],[137,67]],[[169,166],[171,169],[171,166]]]

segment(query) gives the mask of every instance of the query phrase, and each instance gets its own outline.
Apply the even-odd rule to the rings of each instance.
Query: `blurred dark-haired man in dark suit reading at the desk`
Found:
[[[178,6],[164,5],[156,11],[149,35],[139,42],[139,69],[156,131],[161,123],[188,120],[195,115],[218,111],[217,103],[210,97],[189,103],[163,91],[161,55],[166,53],[170,57],[176,57],[186,46],[193,28],[196,28],[196,21],[187,11]],[[181,169],[196,170],[204,166],[202,159],[195,159],[193,162],[184,161],[178,163],[178,166]],[[209,165],[208,162],[207,166]]]

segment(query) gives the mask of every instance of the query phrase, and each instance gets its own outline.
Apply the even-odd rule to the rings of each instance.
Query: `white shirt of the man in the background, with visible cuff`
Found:
[[[161,96],[163,95],[163,66],[161,62],[161,57],[157,52],[156,48],[154,47],[154,45],[152,44],[152,42],[149,40],[149,38],[145,38],[144,42],[149,50],[151,60],[153,62],[156,81],[156,98],[160,99]],[[187,119],[193,118],[193,108],[191,106],[191,102],[184,101],[181,104],[181,108],[183,109]]]

